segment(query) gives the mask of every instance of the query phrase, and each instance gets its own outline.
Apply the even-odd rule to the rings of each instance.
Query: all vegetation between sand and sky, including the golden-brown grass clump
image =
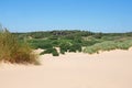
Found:
[[[99,53],[99,51],[128,50],[132,46],[132,32],[92,33],[89,31],[46,31],[10,33],[0,30],[0,62],[38,64],[33,50],[59,56],[66,52]]]

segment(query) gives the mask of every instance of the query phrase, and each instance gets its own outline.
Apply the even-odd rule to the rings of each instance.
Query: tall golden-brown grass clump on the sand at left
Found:
[[[8,30],[0,30],[0,62],[38,64],[28,43],[19,41]]]

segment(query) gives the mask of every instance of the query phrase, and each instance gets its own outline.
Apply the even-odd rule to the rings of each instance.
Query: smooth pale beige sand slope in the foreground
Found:
[[[41,66],[0,65],[0,88],[132,88],[132,50],[41,56]]]

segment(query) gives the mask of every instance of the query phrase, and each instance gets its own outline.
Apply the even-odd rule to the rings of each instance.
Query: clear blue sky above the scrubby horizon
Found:
[[[132,0],[0,0],[0,23],[11,32],[132,32]]]

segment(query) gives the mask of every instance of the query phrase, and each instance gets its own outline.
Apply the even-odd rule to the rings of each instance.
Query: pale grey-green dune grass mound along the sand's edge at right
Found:
[[[132,46],[132,40],[125,40],[122,42],[105,41],[91,46],[87,46],[84,50],[84,53],[94,54],[94,53],[98,53],[99,51],[129,50],[131,46]]]

